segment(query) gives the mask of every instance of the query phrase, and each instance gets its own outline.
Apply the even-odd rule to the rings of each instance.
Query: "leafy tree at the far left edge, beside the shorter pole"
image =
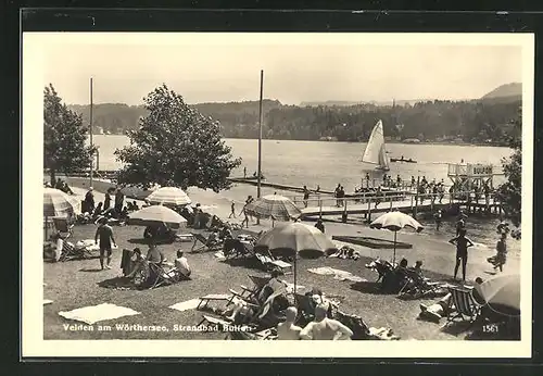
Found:
[[[54,185],[56,173],[68,174],[90,167],[94,148],[86,146],[88,128],[81,116],[62,103],[54,87],[43,90],[43,167]]]

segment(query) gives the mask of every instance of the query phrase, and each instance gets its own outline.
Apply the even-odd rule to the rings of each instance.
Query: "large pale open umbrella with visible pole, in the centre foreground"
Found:
[[[277,226],[257,240],[255,250],[268,249],[272,253],[287,252],[294,255],[294,291],[296,291],[298,255],[319,258],[327,251],[337,251],[336,245],[318,228],[300,222]]]

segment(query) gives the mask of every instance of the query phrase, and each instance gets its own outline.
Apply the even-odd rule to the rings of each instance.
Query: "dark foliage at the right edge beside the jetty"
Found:
[[[497,188],[497,196],[502,201],[504,212],[515,226],[520,225],[522,201],[522,114],[518,111],[513,122],[509,147],[514,150],[512,156],[502,161],[507,181]]]

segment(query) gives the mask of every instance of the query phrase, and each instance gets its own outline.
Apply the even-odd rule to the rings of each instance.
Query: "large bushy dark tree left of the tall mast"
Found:
[[[128,131],[130,146],[116,150],[126,165],[117,175],[119,184],[149,187],[190,186],[227,189],[227,177],[241,164],[220,139],[219,123],[185,103],[166,85],[144,99],[148,114],[138,130]]]

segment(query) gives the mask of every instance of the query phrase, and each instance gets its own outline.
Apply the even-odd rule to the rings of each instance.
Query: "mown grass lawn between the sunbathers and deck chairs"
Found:
[[[239,290],[239,285],[248,285],[248,274],[261,274],[263,271],[251,268],[248,265],[230,265],[214,258],[212,252],[187,253],[192,267],[192,280],[180,281],[173,286],[159,287],[152,290],[112,289],[101,287],[104,280],[121,275],[122,249],[138,247],[135,239],[142,238],[143,228],[135,226],[113,227],[118,249],[113,251],[110,271],[100,271],[98,259],[83,261],[67,261],[63,263],[43,264],[45,284],[43,298],[53,300],[52,304],[43,306],[43,338],[45,339],[222,339],[220,333],[189,333],[174,331],[175,324],[197,325],[202,312],[189,310],[179,312],[169,309],[169,305],[194,299],[209,293],[226,293],[228,288]],[[70,239],[76,242],[81,239],[93,239],[94,225],[83,225],[74,228]],[[130,241],[131,240],[131,241]],[[191,242],[176,242],[160,248],[169,261],[175,259],[175,251],[182,248],[189,251]],[[140,246],[147,251],[146,246]],[[402,339],[463,339],[458,336],[440,330],[439,325],[417,319],[421,300],[402,300],[393,294],[382,294],[375,289],[372,283],[377,274],[365,268],[368,259],[357,261],[340,259],[299,260],[298,284],[307,288],[320,287],[325,293],[344,297],[340,310],[358,314],[374,327],[391,327]],[[332,276],[321,276],[307,272],[310,267],[330,266],[366,278],[368,283],[354,284],[334,280]],[[427,273],[432,278],[446,279],[449,277]],[[293,281],[293,276],[285,277]],[[79,324],[59,315],[60,311],[71,311],[88,305],[113,303],[130,308],[139,315],[125,316],[112,321],[100,322],[100,325],[140,324],[163,325],[168,331],[70,331],[63,324]],[[94,327],[98,326],[94,324]]]

